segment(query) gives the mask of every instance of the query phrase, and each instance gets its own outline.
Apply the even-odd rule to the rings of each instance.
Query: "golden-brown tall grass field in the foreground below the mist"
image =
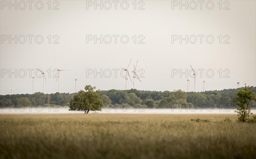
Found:
[[[231,122],[223,122],[229,117]],[[209,119],[195,122],[191,119]],[[254,158],[256,124],[226,114],[0,115],[0,158]]]

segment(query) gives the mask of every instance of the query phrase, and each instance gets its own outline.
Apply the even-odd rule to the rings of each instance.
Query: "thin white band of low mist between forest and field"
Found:
[[[69,111],[69,108],[1,108],[0,114],[84,114],[84,111]],[[93,111],[90,114],[236,114],[236,109],[229,108],[102,108],[102,111]],[[256,110],[252,109],[253,114]]]

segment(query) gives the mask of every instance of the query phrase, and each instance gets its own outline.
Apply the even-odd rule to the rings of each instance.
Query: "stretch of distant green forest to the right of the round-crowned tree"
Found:
[[[178,107],[232,107],[231,100],[236,96],[235,92],[239,89],[224,89],[221,91],[205,92],[184,92],[176,91],[139,91],[139,90],[109,90],[101,91],[100,95],[103,104],[122,105],[145,105],[148,108],[178,108]],[[256,87],[250,87],[251,91],[256,92]],[[252,107],[256,107],[256,102],[252,101]]]

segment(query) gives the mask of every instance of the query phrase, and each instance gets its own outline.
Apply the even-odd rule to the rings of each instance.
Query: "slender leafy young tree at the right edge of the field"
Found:
[[[233,99],[233,103],[238,105],[236,113],[238,113],[238,122],[246,122],[249,118],[250,112],[250,102],[256,100],[254,92],[250,91],[249,86],[240,88],[236,91],[236,97]]]

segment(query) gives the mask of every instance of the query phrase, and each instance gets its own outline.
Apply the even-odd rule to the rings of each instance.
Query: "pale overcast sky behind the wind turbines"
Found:
[[[256,86],[254,0],[0,2],[1,95]]]

